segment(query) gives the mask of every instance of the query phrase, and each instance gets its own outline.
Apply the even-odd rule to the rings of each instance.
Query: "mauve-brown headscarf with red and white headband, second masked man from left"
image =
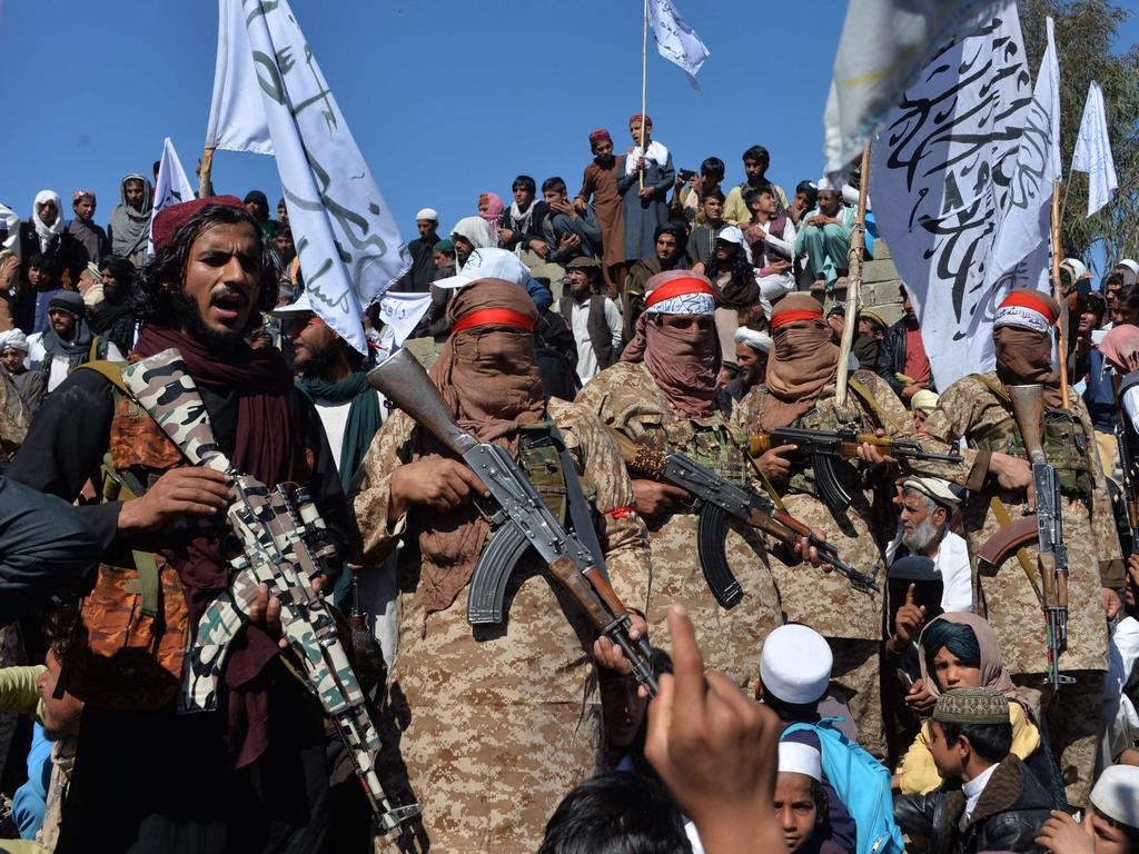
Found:
[[[637,331],[621,354],[622,362],[645,362],[648,372],[677,409],[704,418],[715,407],[716,380],[723,354],[715,327],[674,329],[664,323],[670,314],[712,317],[714,289],[707,277],[690,270],[669,270],[645,286],[646,311],[637,319]],[[659,311],[655,306],[664,306]]]

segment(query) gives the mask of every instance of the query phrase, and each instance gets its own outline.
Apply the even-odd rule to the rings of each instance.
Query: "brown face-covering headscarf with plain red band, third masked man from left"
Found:
[[[822,306],[809,294],[788,294],[771,312],[775,346],[768,356],[769,395],[760,412],[764,433],[787,427],[810,411],[838,369],[838,347]]]

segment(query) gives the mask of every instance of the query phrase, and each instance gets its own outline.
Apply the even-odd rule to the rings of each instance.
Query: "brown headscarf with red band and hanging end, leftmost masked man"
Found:
[[[431,371],[456,421],[480,442],[517,454],[518,427],[546,412],[534,359],[538,309],[526,291],[501,279],[481,279],[456,291],[446,310],[452,335]],[[417,459],[448,452],[429,436]],[[470,581],[489,523],[473,503],[420,515],[420,590],[428,613],[444,610]]]

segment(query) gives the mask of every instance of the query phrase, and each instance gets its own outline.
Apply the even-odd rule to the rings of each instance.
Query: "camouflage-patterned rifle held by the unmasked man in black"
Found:
[[[336,555],[325,523],[306,490],[296,484],[274,488],[233,468],[214,438],[210,414],[181,354],[165,350],[123,369],[123,381],[195,466],[232,478],[237,499],[226,519],[241,545],[230,563],[230,589],[206,608],[183,659],[179,712],[218,707],[218,680],[229,644],[249,617],[259,585],[281,603],[281,626],[296,654],[305,684],[333,721],[375,814],[379,834],[395,830],[419,814],[419,805],[392,808],[376,774],[379,734],[349,663],[336,623],[312,580]]]

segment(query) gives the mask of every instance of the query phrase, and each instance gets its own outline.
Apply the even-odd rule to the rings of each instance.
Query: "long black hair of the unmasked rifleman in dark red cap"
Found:
[[[232,205],[206,205],[174,232],[173,239],[155,255],[134,277],[131,288],[131,307],[144,323],[178,326],[174,294],[165,286],[174,285],[179,290],[186,286],[186,268],[190,261],[190,249],[200,235],[214,225],[246,223],[253,228],[260,255],[259,279],[261,291],[257,296],[259,312],[272,311],[277,305],[277,268],[272,248],[261,236],[261,227],[244,207]],[[249,322],[261,322],[259,312],[252,312]]]

